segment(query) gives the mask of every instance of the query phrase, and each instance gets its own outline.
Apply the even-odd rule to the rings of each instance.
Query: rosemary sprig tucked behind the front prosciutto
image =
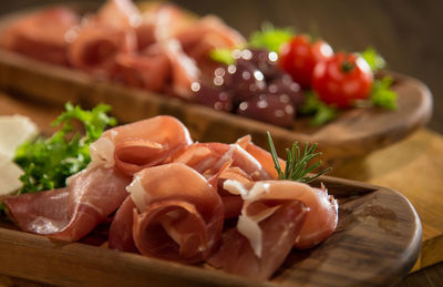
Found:
[[[269,132],[266,132],[268,136],[268,143],[270,148],[270,154],[272,155],[272,161],[278,173],[278,180],[288,180],[295,181],[300,183],[310,183],[317,177],[330,172],[332,168],[328,167],[322,172],[310,176],[308,175],[310,172],[316,170],[321,165],[321,161],[315,163],[313,165],[308,167],[309,161],[313,160],[315,157],[321,155],[321,153],[315,153],[317,148],[317,144],[312,144],[311,147],[308,146],[308,143],[305,144],[303,153],[300,154],[300,147],[298,143],[295,142],[292,144],[291,150],[286,148],[287,160],[286,160],[286,168],[285,172],[281,171],[280,163],[278,162],[278,156],[276,152],[276,147],[274,146],[272,137],[270,136]]]

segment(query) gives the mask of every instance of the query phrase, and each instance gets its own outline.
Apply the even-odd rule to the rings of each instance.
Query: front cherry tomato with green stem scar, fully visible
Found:
[[[312,89],[321,101],[349,107],[356,100],[369,98],[373,74],[368,62],[353,53],[336,53],[313,70]]]

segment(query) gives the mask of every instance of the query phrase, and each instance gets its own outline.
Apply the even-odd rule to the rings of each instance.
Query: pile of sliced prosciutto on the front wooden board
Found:
[[[179,121],[156,116],[106,131],[90,150],[65,188],[3,198],[22,230],[74,242],[109,219],[112,249],[268,279],[292,246],[337,227],[328,191],[276,181],[249,136],[194,143]]]

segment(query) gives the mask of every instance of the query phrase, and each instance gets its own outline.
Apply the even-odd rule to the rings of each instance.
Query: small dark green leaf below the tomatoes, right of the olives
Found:
[[[305,91],[305,104],[300,107],[300,113],[312,115],[312,120],[310,121],[312,126],[323,125],[337,117],[337,109],[320,101],[312,90]]]

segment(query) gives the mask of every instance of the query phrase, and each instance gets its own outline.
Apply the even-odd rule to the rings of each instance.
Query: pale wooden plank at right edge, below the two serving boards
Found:
[[[443,260],[443,137],[421,130],[405,141],[354,158],[333,175],[401,191],[423,223],[423,246],[414,269]]]

